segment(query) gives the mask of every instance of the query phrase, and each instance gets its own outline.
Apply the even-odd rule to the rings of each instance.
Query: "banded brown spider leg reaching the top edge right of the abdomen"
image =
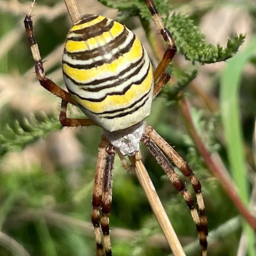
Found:
[[[171,33],[168,31],[168,29],[164,26],[162,19],[155,7],[154,1],[153,0],[145,0],[148,10],[152,14],[153,19],[155,20],[155,24],[157,28],[160,30],[160,33],[162,34],[163,39],[167,42],[168,47],[162,57],[162,60],[159,62],[158,66],[155,69],[154,72],[154,82],[155,84],[157,81],[160,79],[162,76],[162,73],[165,72],[165,69],[167,68],[168,64],[172,61],[175,53],[176,53],[176,45],[175,41],[171,35]],[[157,92],[155,93],[158,94],[161,88],[158,88]]]

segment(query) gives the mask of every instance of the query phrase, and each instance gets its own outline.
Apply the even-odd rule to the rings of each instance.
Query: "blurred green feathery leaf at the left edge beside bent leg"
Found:
[[[56,118],[43,115],[43,121],[38,121],[34,115],[22,123],[14,122],[14,128],[7,125],[4,134],[0,134],[0,154],[16,151],[39,138],[45,138],[50,132],[61,129],[61,124]]]

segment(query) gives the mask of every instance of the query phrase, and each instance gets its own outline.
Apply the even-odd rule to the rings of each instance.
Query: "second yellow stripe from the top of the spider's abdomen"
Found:
[[[121,34],[123,30],[123,25],[115,21],[113,27],[108,32],[104,32],[99,36],[89,38],[87,41],[67,40],[65,48],[70,53],[88,51],[90,49],[105,45]]]

